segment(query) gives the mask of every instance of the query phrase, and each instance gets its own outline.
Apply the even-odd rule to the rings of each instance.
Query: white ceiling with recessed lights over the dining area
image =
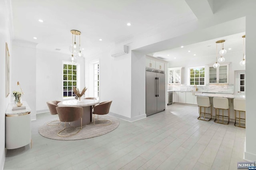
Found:
[[[37,49],[60,49],[60,53],[67,54],[70,54],[72,29],[81,31],[81,48],[89,55],[152,29],[182,24],[182,18],[187,16],[191,20],[196,18],[185,0],[11,0],[11,3],[14,39],[38,43]],[[128,22],[130,26],[126,25]],[[172,55],[177,52],[174,49]]]

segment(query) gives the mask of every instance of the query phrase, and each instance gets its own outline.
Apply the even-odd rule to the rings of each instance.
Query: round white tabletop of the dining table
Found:
[[[66,100],[63,102],[59,102],[58,106],[78,106],[78,107],[86,107],[86,106],[93,106],[95,104],[100,103],[98,100],[93,99],[82,99],[81,101],[78,100]]]

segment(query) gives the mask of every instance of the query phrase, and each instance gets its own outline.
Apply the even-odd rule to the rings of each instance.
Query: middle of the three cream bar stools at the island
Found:
[[[213,98],[213,107],[215,108],[216,118],[214,120],[215,123],[221,123],[228,125],[229,123],[229,105],[228,98]],[[220,109],[222,109],[222,115],[220,115]],[[224,116],[224,110],[228,110],[228,116]],[[219,121],[219,118],[222,117],[222,122]],[[228,118],[228,123],[224,123],[224,117]],[[216,121],[217,120],[217,121]]]

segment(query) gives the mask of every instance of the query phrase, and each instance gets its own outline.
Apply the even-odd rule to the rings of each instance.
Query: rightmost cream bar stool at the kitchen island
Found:
[[[234,104],[234,111],[235,111],[235,126],[245,128],[245,99],[234,98],[233,104]],[[236,111],[239,112],[239,117],[236,117]],[[244,112],[244,118],[241,118],[241,115],[240,115],[241,111]],[[236,120],[239,121],[238,125],[236,125]],[[244,121],[244,126],[241,125],[240,123],[241,120]]]

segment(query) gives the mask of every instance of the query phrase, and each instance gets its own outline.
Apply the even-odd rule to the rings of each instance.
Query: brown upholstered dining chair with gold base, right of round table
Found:
[[[98,119],[97,119],[98,121],[109,121],[110,122],[108,124],[103,124],[103,125],[110,125],[112,123],[112,121],[110,121],[110,120],[99,120],[99,115],[108,114],[111,103],[112,103],[112,101],[105,101],[105,102],[101,102],[100,104],[98,104],[94,107],[94,111],[92,112],[92,114],[94,114],[94,116],[93,116],[93,124],[94,125],[101,125],[101,124],[95,124],[95,114],[98,115]]]

